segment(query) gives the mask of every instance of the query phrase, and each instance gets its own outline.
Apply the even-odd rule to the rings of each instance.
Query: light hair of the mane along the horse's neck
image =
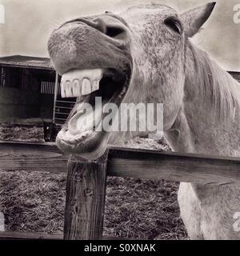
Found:
[[[188,46],[193,56],[198,97],[210,108],[213,118],[216,117],[220,122],[234,121],[240,114],[240,83],[218,66],[206,52],[191,42],[188,42]]]

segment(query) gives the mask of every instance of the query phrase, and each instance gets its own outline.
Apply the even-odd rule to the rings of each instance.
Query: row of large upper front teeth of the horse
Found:
[[[103,70],[71,70],[62,75],[62,98],[79,97],[99,89]]]

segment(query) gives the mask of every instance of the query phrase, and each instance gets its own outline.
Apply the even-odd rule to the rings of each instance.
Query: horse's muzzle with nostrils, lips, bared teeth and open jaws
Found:
[[[54,30],[48,50],[62,75],[62,98],[77,98],[57,145],[67,153],[97,158],[106,150],[109,137],[105,130],[96,129],[104,117],[102,109],[109,102],[119,106],[130,84],[128,28],[110,14],[74,19]],[[102,100],[101,109],[95,104],[97,97]]]

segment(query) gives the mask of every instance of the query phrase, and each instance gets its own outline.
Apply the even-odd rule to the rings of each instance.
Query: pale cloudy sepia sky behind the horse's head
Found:
[[[0,25],[0,57],[24,54],[46,57],[50,32],[67,19],[100,14],[105,10],[119,13],[137,3],[161,2],[184,11],[207,0],[0,0],[5,6],[6,22]],[[240,70],[240,23],[235,24],[236,0],[217,0],[217,6],[196,45],[206,50],[226,70]],[[238,40],[239,39],[239,40]]]

